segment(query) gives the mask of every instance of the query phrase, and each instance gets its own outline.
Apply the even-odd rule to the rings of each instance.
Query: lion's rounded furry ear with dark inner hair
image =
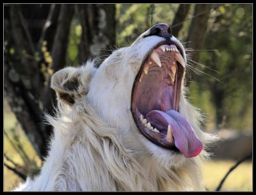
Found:
[[[51,88],[56,91],[60,102],[73,105],[79,97],[79,85],[81,84],[81,73],[77,68],[67,67],[52,75]]]

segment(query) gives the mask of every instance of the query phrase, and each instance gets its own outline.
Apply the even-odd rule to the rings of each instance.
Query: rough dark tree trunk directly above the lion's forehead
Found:
[[[96,58],[99,65],[115,45],[115,4],[79,4],[76,6],[82,25],[79,63]]]

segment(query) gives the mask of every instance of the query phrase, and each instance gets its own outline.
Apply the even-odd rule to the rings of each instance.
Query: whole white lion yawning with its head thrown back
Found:
[[[186,54],[157,24],[130,47],[56,72],[56,116],[40,174],[15,191],[204,191],[216,136],[185,99]]]

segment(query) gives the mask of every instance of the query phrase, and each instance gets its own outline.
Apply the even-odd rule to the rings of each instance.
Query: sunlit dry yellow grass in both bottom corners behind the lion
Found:
[[[5,107],[5,105],[4,105]],[[29,143],[26,135],[22,132],[19,125],[15,126],[16,118],[10,112],[4,113],[4,130],[11,132],[15,129],[20,137],[24,150],[29,154],[31,159],[34,159],[37,166],[40,166],[40,159],[36,155],[35,150]],[[19,153],[13,149],[12,144],[6,136],[4,136],[4,153],[8,155],[15,162],[24,166],[24,160],[20,157]],[[5,161],[4,161],[5,162]],[[227,171],[236,164],[233,160],[212,160],[204,163],[204,182],[207,191],[215,191],[218,187],[221,179]],[[26,164],[26,166],[28,166]],[[19,176],[15,175],[12,171],[4,167],[4,191],[10,191],[13,187],[16,187],[22,182]],[[223,183],[221,191],[252,191],[252,162],[243,162],[240,164],[230,175],[227,180]]]

